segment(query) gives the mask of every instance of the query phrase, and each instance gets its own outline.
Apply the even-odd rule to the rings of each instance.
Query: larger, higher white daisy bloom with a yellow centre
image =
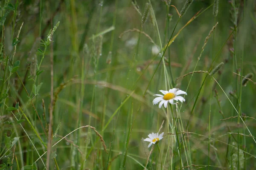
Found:
[[[160,92],[162,92],[164,94],[161,95],[161,94],[155,94],[154,96],[159,96],[157,98],[155,98],[153,100],[153,104],[156,105],[158,102],[159,103],[159,108],[162,107],[162,105],[164,105],[165,108],[167,108],[167,104],[168,102],[171,103],[172,105],[175,104],[174,100],[176,101],[180,101],[180,102],[185,102],[185,99],[182,97],[182,96],[178,96],[180,94],[186,94],[185,91],[182,91],[178,88],[173,88],[173,89],[170,89],[169,91],[163,91],[163,90],[160,90]]]

